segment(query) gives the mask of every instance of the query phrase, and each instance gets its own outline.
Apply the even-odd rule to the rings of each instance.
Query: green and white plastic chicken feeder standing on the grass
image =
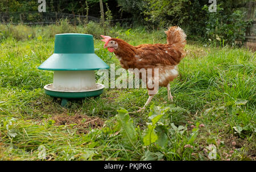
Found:
[[[94,53],[92,35],[64,33],[55,35],[54,53],[38,68],[54,71],[44,90],[65,106],[71,98],[99,96],[104,85],[96,83],[94,71],[109,66]]]

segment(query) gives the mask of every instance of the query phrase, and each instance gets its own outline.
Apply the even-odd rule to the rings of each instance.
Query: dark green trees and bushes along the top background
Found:
[[[216,12],[209,12],[208,1],[199,0],[104,0],[103,2],[104,10],[108,12],[108,24],[116,24],[121,19],[120,23],[126,27],[143,25],[148,29],[159,29],[179,25],[187,33],[188,39],[212,41],[209,44],[214,45],[234,45],[236,40],[245,39],[246,9],[241,8],[240,5],[247,0],[219,0]],[[10,19],[13,22],[19,22],[20,16],[11,12],[20,11],[23,12],[22,16],[27,15],[27,19],[38,21],[42,18],[38,13],[26,14],[26,11],[37,11],[38,5],[37,1],[3,0],[0,2],[0,11],[10,12]],[[47,12],[86,15],[86,7],[89,8],[89,16],[100,18],[98,0],[47,1]]]

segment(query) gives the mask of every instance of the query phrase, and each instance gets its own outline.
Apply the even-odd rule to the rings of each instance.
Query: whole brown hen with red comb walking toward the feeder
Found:
[[[120,65],[127,69],[146,69],[146,76],[140,73],[140,78],[146,83],[148,100],[142,109],[150,103],[158,92],[158,86],[167,87],[168,100],[173,101],[170,91],[170,81],[178,76],[177,65],[185,57],[184,46],[187,43],[186,35],[180,27],[170,27],[165,31],[167,44],[142,44],[133,46],[119,38],[103,36],[105,45],[110,52],[114,52]],[[151,69],[152,72],[148,72]],[[157,73],[156,73],[157,72]],[[153,84],[150,87],[150,82]],[[158,84],[156,84],[158,83]],[[141,111],[138,110],[137,112]]]

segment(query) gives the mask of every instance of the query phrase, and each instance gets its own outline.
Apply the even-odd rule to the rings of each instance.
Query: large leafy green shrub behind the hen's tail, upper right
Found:
[[[245,12],[237,7],[245,0],[219,0],[216,12],[208,10],[208,1],[144,1],[147,3],[143,14],[148,25],[161,28],[179,25],[187,33],[188,39],[211,40],[216,46],[220,45],[220,41],[222,45],[234,45],[236,40],[245,39]]]

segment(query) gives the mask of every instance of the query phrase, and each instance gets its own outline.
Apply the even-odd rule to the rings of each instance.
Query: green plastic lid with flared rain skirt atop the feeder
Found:
[[[55,35],[54,53],[38,67],[41,70],[79,71],[109,68],[94,53],[93,36],[80,33]]]

